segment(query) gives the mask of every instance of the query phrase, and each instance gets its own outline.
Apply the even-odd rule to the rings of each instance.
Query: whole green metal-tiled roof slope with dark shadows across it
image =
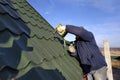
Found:
[[[0,0],[0,80],[80,80],[53,30],[26,0]]]

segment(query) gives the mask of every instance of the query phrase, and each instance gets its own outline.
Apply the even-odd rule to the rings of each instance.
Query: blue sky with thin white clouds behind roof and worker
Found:
[[[120,47],[120,0],[27,0],[54,28],[62,25],[84,26],[93,32],[99,47],[108,40]],[[75,36],[68,34],[68,41]]]

